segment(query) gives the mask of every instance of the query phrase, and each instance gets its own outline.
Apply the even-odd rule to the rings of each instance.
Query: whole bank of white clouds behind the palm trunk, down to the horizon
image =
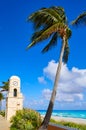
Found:
[[[28,100],[24,100],[25,106],[35,110],[47,109],[52,93],[51,87],[53,87],[51,82],[54,82],[57,65],[58,63],[52,60],[43,69],[43,75],[38,77],[38,81],[45,84],[43,85],[45,88],[41,90],[40,94],[39,89],[39,97],[33,95],[26,98]],[[85,95],[86,69],[78,69],[76,67],[68,69],[67,65],[62,65],[54,109],[86,109]]]

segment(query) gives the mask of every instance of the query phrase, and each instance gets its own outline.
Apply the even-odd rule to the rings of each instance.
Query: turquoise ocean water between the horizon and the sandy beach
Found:
[[[46,110],[37,110],[41,115],[45,115]],[[52,116],[71,117],[86,119],[86,110],[53,110]]]

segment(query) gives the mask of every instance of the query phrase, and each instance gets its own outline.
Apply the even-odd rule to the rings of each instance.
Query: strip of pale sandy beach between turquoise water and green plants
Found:
[[[66,121],[66,122],[74,122],[77,124],[86,124],[86,119],[82,118],[69,118],[69,117],[57,117],[57,116],[52,116],[51,118],[56,121]]]

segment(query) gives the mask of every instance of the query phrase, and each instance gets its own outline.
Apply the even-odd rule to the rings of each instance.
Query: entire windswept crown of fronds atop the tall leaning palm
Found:
[[[42,53],[44,53],[57,44],[58,37],[63,39],[64,35],[66,35],[66,38],[69,39],[71,36],[71,30],[67,26],[66,14],[62,7],[52,6],[50,8],[42,8],[31,14],[28,17],[28,21],[29,20],[34,23],[34,29],[36,30],[31,37],[31,43],[26,49],[33,47],[47,38],[50,38],[49,43],[42,50]],[[68,54],[69,47],[66,45],[63,56],[64,63],[68,60]]]

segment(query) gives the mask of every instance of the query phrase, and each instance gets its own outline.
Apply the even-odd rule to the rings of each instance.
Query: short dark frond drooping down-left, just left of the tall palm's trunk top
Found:
[[[58,33],[54,33],[50,42],[44,47],[44,49],[42,50],[42,53],[45,53],[47,51],[49,51],[53,46],[57,45],[57,39],[58,39]]]

